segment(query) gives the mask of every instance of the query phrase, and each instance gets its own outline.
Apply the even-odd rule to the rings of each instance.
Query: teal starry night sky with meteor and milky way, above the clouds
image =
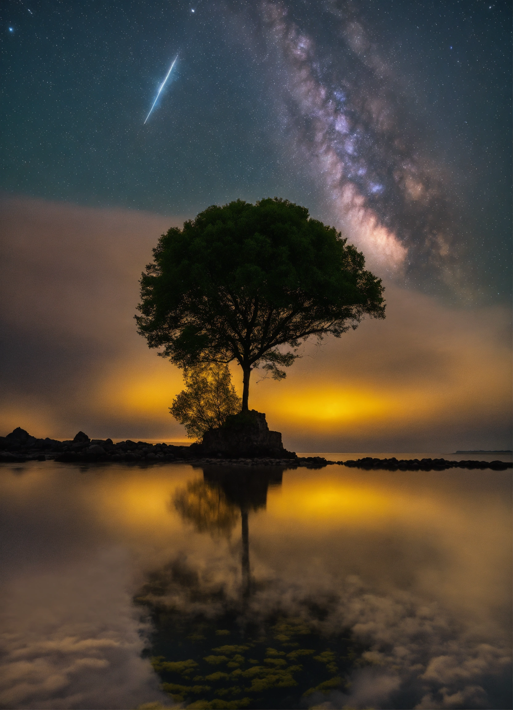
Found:
[[[31,251],[11,244],[16,224],[30,213],[48,256],[50,217],[40,229],[34,215],[48,208],[63,229],[59,204],[150,213],[158,229],[139,249],[147,256],[137,252],[140,273],[166,224],[277,195],[342,230],[404,299],[433,298],[455,309],[454,322],[502,308],[499,330],[510,332],[509,2],[11,0],[0,17],[0,190],[16,268]],[[111,246],[123,251],[121,236]],[[21,281],[33,283],[29,271]],[[135,305],[136,295],[131,314]],[[56,359],[62,342],[48,325],[34,348],[34,324],[9,313],[9,396],[37,368],[55,390],[53,366],[26,353],[45,351],[50,363],[45,342]],[[107,359],[102,347],[91,361]]]

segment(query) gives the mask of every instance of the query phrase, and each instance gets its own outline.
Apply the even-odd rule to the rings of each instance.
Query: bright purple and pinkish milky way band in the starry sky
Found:
[[[323,15],[303,31],[286,4],[264,0],[252,17],[289,149],[372,266],[413,282],[427,272],[463,295],[448,171],[420,147],[423,129],[355,5],[329,2]]]

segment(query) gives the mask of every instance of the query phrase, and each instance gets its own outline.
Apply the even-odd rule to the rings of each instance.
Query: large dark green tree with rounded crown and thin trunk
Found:
[[[181,368],[236,360],[285,377],[309,337],[384,318],[381,280],[340,232],[288,200],[207,207],[172,227],[141,277],[139,333]]]

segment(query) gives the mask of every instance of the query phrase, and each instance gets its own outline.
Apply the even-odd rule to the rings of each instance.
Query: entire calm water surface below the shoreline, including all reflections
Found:
[[[511,469],[46,461],[0,486],[4,708],[512,707]]]

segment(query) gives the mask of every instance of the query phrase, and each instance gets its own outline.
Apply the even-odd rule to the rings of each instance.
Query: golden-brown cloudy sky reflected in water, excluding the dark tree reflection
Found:
[[[23,471],[1,478],[8,633],[0,701],[114,708],[161,697],[140,657],[138,629],[148,630],[131,597],[171,560],[195,575],[194,604],[210,618],[241,603],[244,501],[223,488],[236,526],[231,537],[212,537],[170,506],[208,478],[188,466]],[[350,689],[308,704],[508,706],[509,491],[507,472],[301,470],[267,489],[265,507],[246,508],[244,613],[285,611],[306,619],[316,638],[350,628],[369,649],[372,665],[352,672]],[[212,602],[215,589],[222,595]],[[188,594],[173,588],[185,613]]]

